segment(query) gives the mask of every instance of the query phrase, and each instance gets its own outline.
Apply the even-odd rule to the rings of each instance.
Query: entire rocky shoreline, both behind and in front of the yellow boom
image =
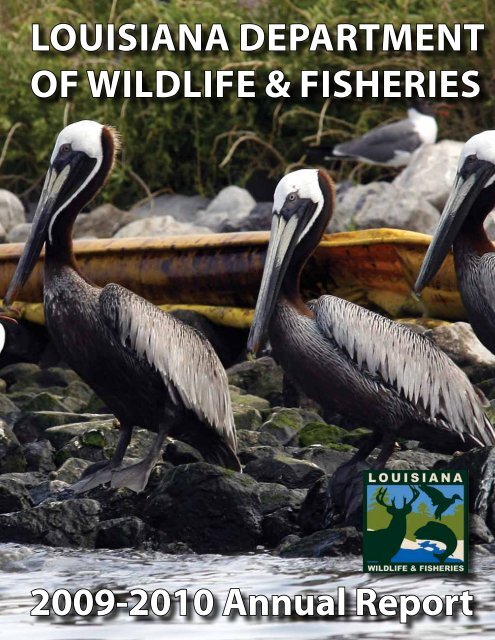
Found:
[[[390,226],[430,232],[455,174],[461,143],[425,146],[392,182],[338,185],[331,231]],[[388,204],[387,204],[388,203]],[[81,214],[76,238],[159,236],[268,229],[271,203],[239,187],[213,200],[163,195],[121,211],[110,204]],[[0,191],[0,242],[29,232],[22,203]],[[492,223],[493,224],[493,223]],[[0,541],[61,547],[157,549],[170,553],[270,550],[284,557],[360,552],[359,523],[329,507],[327,488],[369,433],[323,414],[284,381],[269,357],[245,361],[246,332],[177,312],[202,331],[228,370],[244,473],[206,464],[198,451],[168,441],[142,494],[70,490],[93,462],[108,459],[118,424],[93,391],[66,367],[42,327],[9,325],[0,356]],[[495,422],[495,356],[465,323],[411,321],[467,373],[488,399]],[[433,328],[432,328],[433,327]],[[126,462],[141,458],[153,434],[136,429]],[[495,448],[458,454],[401,440],[388,466],[468,468],[471,542],[495,552]]]

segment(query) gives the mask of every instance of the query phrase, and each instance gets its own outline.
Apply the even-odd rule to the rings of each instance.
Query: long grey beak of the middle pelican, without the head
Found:
[[[256,354],[263,345],[292,254],[315,208],[313,202],[305,200],[290,216],[284,216],[283,208],[280,213],[274,212],[263,278],[247,343],[249,353]]]

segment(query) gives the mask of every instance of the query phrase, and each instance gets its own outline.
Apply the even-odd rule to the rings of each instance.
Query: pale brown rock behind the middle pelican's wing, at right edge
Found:
[[[473,382],[495,376],[495,356],[481,344],[467,322],[441,325],[425,335],[466,370]]]

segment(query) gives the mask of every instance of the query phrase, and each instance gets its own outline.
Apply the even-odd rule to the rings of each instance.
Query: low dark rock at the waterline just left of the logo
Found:
[[[358,555],[362,535],[354,527],[316,531],[286,547],[282,558],[323,558],[326,556]]]

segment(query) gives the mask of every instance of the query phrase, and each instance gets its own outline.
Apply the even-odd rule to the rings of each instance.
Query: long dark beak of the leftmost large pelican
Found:
[[[48,236],[50,220],[55,211],[55,205],[58,203],[59,195],[67,182],[69,171],[69,165],[65,166],[60,173],[57,173],[54,167],[48,169],[29,238],[26,241],[17,269],[5,294],[4,302],[7,305],[18,297],[20,290],[36,265]]]

